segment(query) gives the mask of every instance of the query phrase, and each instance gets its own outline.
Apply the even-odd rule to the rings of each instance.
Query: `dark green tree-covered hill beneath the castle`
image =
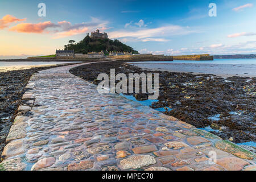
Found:
[[[75,53],[86,54],[88,52],[100,51],[104,51],[106,54],[110,51],[138,53],[138,51],[135,51],[132,47],[121,43],[119,40],[111,40],[108,38],[92,39],[89,35],[78,43],[75,43],[75,40],[69,40],[68,43],[69,44],[64,46],[64,49],[74,50]]]

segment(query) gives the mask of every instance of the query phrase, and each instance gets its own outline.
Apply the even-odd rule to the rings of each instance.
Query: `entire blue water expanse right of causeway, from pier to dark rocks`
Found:
[[[145,61],[129,62],[153,71],[205,73],[222,76],[256,77],[256,59],[216,59],[213,61]]]

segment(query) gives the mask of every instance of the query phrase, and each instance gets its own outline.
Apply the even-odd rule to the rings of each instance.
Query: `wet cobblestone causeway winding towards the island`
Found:
[[[99,94],[69,73],[73,67],[31,77],[2,154],[6,170],[255,170],[255,154],[118,94]]]

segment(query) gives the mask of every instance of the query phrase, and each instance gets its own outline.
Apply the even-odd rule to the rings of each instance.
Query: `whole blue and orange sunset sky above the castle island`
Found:
[[[256,53],[256,0],[1,0],[0,59],[52,55],[97,28],[140,53]]]

